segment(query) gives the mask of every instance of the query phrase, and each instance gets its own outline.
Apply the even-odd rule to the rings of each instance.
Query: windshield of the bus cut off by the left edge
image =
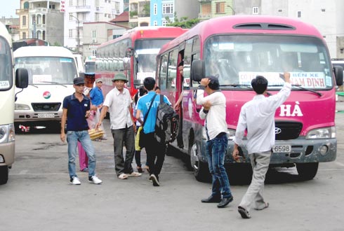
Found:
[[[0,91],[11,89],[13,82],[11,48],[0,36]]]

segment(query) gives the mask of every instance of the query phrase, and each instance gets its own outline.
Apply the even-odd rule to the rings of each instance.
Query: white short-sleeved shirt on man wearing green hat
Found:
[[[117,87],[114,87],[107,93],[103,106],[109,107],[111,129],[117,130],[133,125],[129,111],[130,105],[131,96],[128,89],[124,88],[123,92],[119,92]]]

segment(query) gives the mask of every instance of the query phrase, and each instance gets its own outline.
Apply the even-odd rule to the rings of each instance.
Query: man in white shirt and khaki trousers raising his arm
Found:
[[[247,130],[246,148],[253,169],[252,181],[240,202],[238,211],[242,218],[251,218],[249,211],[255,202],[255,209],[269,207],[263,198],[265,174],[270,165],[272,146],[274,146],[274,114],[289,97],[291,92],[290,73],[284,73],[284,87],[273,96],[265,97],[267,79],[257,76],[251,81],[255,97],[242,106],[237,131],[234,138],[234,160],[239,159],[238,147],[243,145],[243,137]]]

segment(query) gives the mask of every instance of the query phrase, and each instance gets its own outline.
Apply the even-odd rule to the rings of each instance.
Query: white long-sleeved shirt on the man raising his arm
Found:
[[[274,146],[274,114],[289,97],[291,84],[284,83],[284,87],[270,97],[258,94],[242,106],[240,111],[234,143],[241,146],[247,129],[246,148],[249,154],[270,151]]]

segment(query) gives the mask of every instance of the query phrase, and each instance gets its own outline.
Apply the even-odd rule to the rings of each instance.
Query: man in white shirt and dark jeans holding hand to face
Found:
[[[204,90],[206,97],[204,97]],[[201,79],[197,90],[197,104],[202,105],[199,117],[204,120],[206,130],[206,158],[212,176],[211,196],[203,203],[218,203],[218,208],[227,206],[233,200],[230,181],[225,170],[227,151],[226,98],[220,91],[218,78],[209,76]]]

